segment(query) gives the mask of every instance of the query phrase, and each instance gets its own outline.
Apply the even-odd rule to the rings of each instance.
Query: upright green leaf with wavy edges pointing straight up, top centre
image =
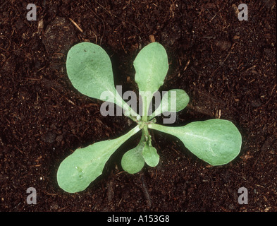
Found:
[[[134,67],[135,81],[144,102],[142,119],[147,121],[149,104],[154,93],[164,84],[168,71],[166,49],[158,42],[148,44],[137,54]]]

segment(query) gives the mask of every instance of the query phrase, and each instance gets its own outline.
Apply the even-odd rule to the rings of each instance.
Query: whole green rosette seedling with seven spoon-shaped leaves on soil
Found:
[[[131,136],[141,131],[140,142],[122,157],[121,166],[130,174],[140,172],[146,162],[150,167],[159,163],[159,154],[152,145],[149,129],[176,136],[185,147],[210,165],[225,165],[239,153],[242,136],[237,127],[225,119],[194,121],[185,126],[164,126],[156,124],[156,116],[164,112],[183,110],[190,98],[184,90],[169,90],[161,104],[148,115],[154,93],[164,84],[168,72],[168,57],[158,42],[147,44],[134,61],[135,81],[142,98],[142,115],[137,114],[118,95],[113,82],[113,71],[108,54],[99,45],[90,42],[75,44],[68,52],[66,70],[73,87],[83,95],[120,106],[124,115],[137,124],[128,133],[115,139],[100,141],[78,148],[61,162],[57,181],[61,189],[69,193],[83,191],[102,174],[111,155]],[[166,96],[166,97],[165,97]],[[170,97],[170,98],[168,98]],[[174,107],[171,103],[174,102]]]

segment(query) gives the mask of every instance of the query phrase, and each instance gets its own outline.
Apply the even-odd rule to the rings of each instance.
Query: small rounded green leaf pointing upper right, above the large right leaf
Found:
[[[188,102],[190,102],[190,97],[185,93],[185,90],[169,90],[164,94],[161,104],[149,117],[149,120],[164,112],[180,112],[187,106]]]

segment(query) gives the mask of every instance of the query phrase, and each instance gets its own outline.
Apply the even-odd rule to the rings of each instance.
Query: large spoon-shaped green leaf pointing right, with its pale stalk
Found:
[[[178,127],[149,124],[148,127],[178,137],[188,150],[210,165],[227,164],[240,153],[242,136],[228,120],[209,119]]]

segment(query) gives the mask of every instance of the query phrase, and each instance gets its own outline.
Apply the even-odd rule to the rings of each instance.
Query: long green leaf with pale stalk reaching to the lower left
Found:
[[[137,131],[140,131],[139,126],[119,138],[100,141],[75,150],[59,166],[57,180],[61,189],[70,193],[85,190],[101,175],[107,160],[116,149]]]

